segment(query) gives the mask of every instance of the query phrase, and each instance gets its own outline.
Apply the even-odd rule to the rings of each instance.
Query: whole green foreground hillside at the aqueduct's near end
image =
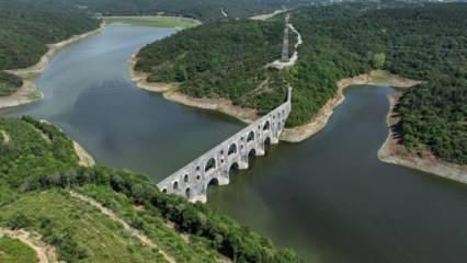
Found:
[[[300,262],[204,205],[160,193],[144,175],[79,167],[71,140],[30,117],[0,121],[2,229],[34,233],[68,263]],[[0,239],[0,252],[11,245],[19,244]]]

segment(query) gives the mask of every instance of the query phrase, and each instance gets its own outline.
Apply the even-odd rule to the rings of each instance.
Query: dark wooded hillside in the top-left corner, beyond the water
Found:
[[[33,66],[47,53],[47,44],[94,30],[99,23],[77,8],[53,0],[0,1],[0,96],[22,85],[18,77],[1,70]]]

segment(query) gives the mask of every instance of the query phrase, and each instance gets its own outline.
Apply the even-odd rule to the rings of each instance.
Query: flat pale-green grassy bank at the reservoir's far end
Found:
[[[104,16],[109,24],[144,25],[155,27],[189,28],[201,24],[200,21],[180,16]]]

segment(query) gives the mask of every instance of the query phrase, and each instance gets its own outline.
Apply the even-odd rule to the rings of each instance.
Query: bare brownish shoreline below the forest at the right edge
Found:
[[[399,117],[395,115],[394,107],[400,96],[401,92],[394,92],[387,95],[389,101],[389,111],[386,116],[386,124],[389,132],[385,142],[377,152],[378,159],[381,162],[402,165],[460,183],[467,183],[467,165],[442,161],[433,155],[430,155],[430,152],[426,152],[421,157],[417,153],[410,152],[406,147],[400,145],[397,139],[395,139],[395,133],[391,126],[399,122]]]

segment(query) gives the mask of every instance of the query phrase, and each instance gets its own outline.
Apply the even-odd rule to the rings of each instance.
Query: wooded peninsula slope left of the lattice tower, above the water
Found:
[[[146,46],[135,68],[151,72],[149,81],[180,82],[190,95],[240,103],[266,78],[262,67],[281,53],[282,28],[255,21],[208,23]]]

